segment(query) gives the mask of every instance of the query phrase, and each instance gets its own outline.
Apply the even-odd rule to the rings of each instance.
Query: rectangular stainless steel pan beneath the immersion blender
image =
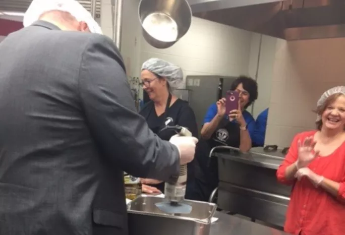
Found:
[[[208,235],[217,206],[213,203],[185,200],[190,214],[168,214],[156,207],[164,198],[140,196],[128,204],[130,235]]]

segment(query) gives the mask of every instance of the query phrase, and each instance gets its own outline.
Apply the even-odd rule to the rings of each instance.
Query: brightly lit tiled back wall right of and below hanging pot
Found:
[[[248,74],[251,33],[193,17],[187,34],[167,49],[141,40],[141,62],[160,57],[180,65],[186,75]]]

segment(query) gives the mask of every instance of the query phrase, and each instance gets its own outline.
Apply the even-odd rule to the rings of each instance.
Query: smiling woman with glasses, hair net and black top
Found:
[[[166,126],[182,126],[197,136],[198,129],[195,114],[188,103],[172,95],[171,88],[176,88],[183,79],[180,67],[152,58],[145,62],[141,73],[141,86],[148,93],[151,101],[140,111],[149,128],[161,139],[168,141],[176,135],[175,131],[164,130]],[[187,192],[194,177],[194,161],[187,164]],[[164,193],[164,182],[143,179],[144,193]],[[146,184],[147,183],[147,184]],[[186,196],[188,197],[188,196]]]

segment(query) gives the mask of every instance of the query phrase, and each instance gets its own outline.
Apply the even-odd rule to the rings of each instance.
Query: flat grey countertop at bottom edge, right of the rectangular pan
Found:
[[[283,231],[254,223],[233,215],[216,212],[218,220],[211,225],[210,235],[287,235]]]

